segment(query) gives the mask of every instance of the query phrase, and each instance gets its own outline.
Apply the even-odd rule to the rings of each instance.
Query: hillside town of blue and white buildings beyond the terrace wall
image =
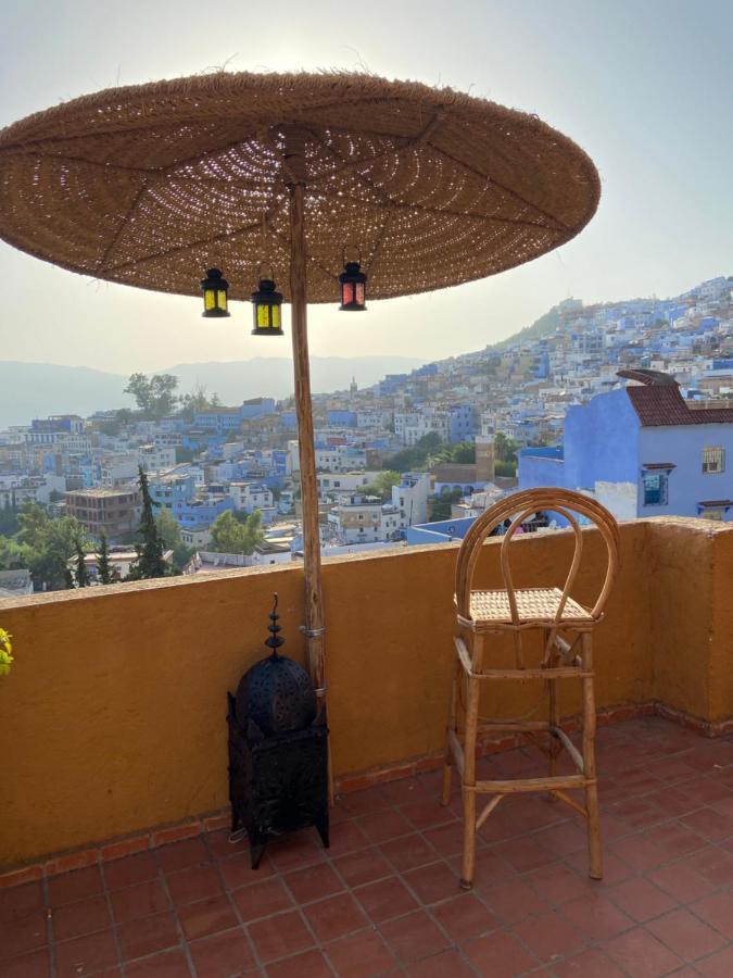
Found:
[[[314,396],[323,553],[451,541],[517,487],[580,489],[617,518],[732,519],[732,288],[719,277],[672,299],[567,299],[503,343]],[[298,560],[292,402],[177,400],[165,378],[136,377],[137,412],[0,431],[3,535],[27,504],[73,517],[88,582],[102,537],[122,579],[136,555],[142,472],[159,519],[168,514],[165,554],[178,572]],[[249,544],[223,549],[223,526],[253,514]],[[555,525],[538,514],[528,529]],[[12,548],[0,562],[0,595],[38,587]]]

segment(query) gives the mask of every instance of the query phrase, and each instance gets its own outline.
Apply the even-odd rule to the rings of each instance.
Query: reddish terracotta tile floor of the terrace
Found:
[[[541,772],[530,749],[481,762]],[[606,876],[577,816],[509,799],[458,889],[460,805],[440,776],[343,798],[332,844],[226,832],[0,891],[0,975],[733,976],[733,737],[658,718],[598,732]]]

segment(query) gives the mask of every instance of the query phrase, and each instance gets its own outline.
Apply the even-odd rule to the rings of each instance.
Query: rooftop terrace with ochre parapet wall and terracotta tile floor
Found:
[[[515,577],[551,582],[571,542],[528,535]],[[580,600],[601,569],[585,543]],[[301,569],[0,602],[0,975],[733,974],[733,529],[621,525],[595,642],[601,882],[577,816],[535,795],[489,818],[458,890],[459,800],[439,805],[437,772],[454,564],[451,544],[325,562],[332,845],[277,840],[257,873],[228,841],[225,692],[264,653],[274,590],[302,659]],[[561,706],[571,729],[576,691]],[[482,776],[544,769],[493,750]]]

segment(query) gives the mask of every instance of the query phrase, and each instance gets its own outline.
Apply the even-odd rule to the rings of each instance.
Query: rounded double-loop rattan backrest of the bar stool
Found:
[[[581,492],[573,492],[570,489],[547,488],[527,489],[522,492],[516,492],[514,496],[500,500],[473,522],[464,537],[458,552],[458,562],[456,566],[456,609],[460,618],[470,618],[470,598],[473,573],[481,553],[483,541],[497,526],[509,519],[509,527],[502,538],[500,561],[504,588],[507,592],[509,609],[511,611],[511,623],[513,625],[520,624],[515,588],[511,580],[511,569],[509,567],[509,546],[519,526],[534,513],[540,511],[557,513],[559,516],[567,519],[572,527],[576,541],[572,562],[565,581],[565,587],[563,588],[563,597],[555,615],[556,622],[563,617],[563,611],[570,594],[570,589],[578,576],[583,553],[583,535],[577,515],[585,517],[601,531],[606,544],[606,576],[595,604],[591,610],[593,618],[597,619],[601,617],[608,594],[614,586],[614,579],[618,567],[618,524],[608,510],[605,506],[602,506],[596,500],[583,496]]]

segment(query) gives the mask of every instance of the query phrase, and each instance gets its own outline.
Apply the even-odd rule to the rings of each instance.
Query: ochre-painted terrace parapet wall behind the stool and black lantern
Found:
[[[603,546],[594,531],[584,539],[577,597],[590,601]],[[621,541],[596,630],[598,706],[661,699],[705,720],[731,716],[733,528],[631,522]],[[569,534],[513,546],[517,585],[555,582],[570,560]],[[483,554],[484,584],[498,584],[495,547]],[[440,752],[455,557],[443,546],[325,562],[337,776]],[[275,590],[283,651],[303,662],[299,565],[0,602],[16,650],[0,680],[0,865],[223,808],[225,694],[265,653]],[[501,709],[522,713],[530,695],[531,684],[504,685]],[[568,687],[564,713],[578,707]]]

